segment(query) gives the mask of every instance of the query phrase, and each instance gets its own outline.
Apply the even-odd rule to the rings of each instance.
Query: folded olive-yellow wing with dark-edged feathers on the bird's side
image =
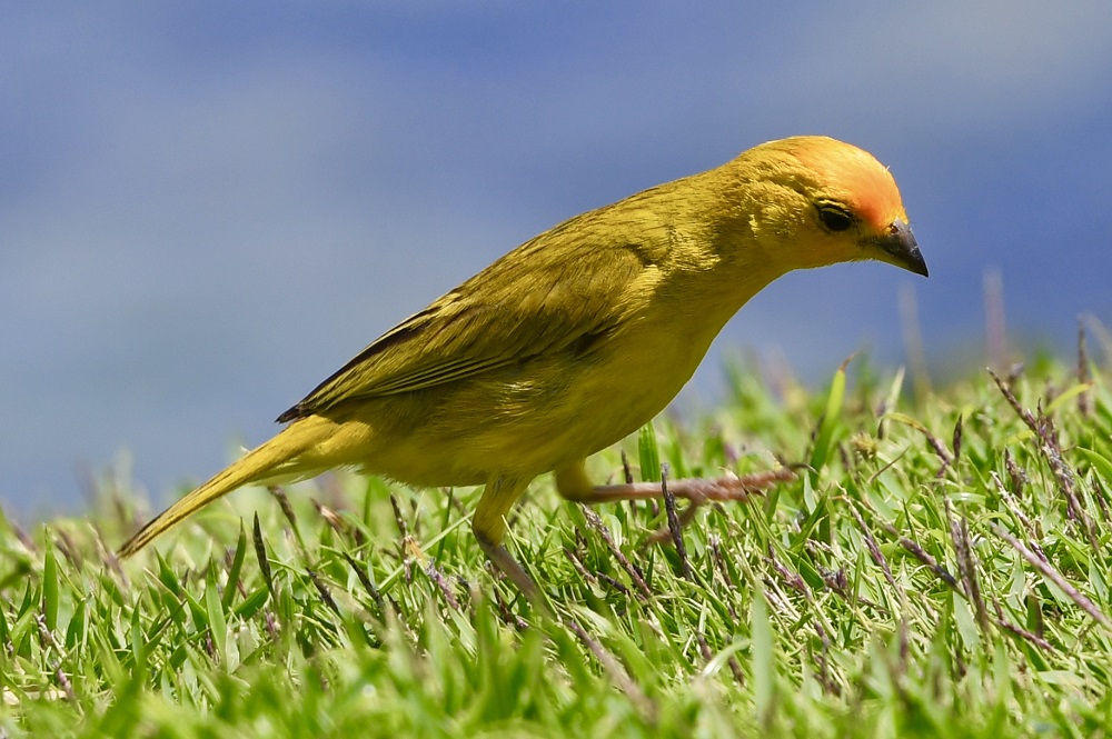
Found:
[[[641,291],[631,288],[661,252],[646,237],[667,237],[641,222],[637,242],[615,239],[624,229],[597,228],[592,216],[526,242],[390,329],[278,421],[464,381],[537,354],[589,347],[614,331],[636,308]]]

